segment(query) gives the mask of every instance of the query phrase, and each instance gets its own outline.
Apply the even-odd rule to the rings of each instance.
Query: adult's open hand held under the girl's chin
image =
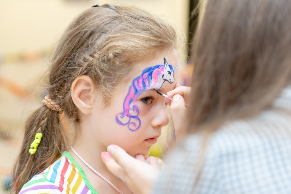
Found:
[[[111,173],[124,181],[133,193],[151,193],[160,173],[160,166],[155,157],[149,157],[148,164],[143,155],[139,154],[133,158],[117,145],[108,146],[107,151],[102,152],[101,157]]]

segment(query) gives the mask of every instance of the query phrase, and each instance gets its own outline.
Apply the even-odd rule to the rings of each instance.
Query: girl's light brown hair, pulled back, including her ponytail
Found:
[[[87,75],[95,82],[107,106],[109,94],[126,80],[136,62],[181,46],[175,29],[160,17],[137,7],[104,6],[115,10],[94,7],[84,11],[71,22],[54,50],[47,94],[73,123],[79,117],[70,91],[78,76]],[[43,137],[31,155],[28,150],[39,128]],[[67,148],[65,135],[57,111],[41,106],[29,116],[13,170],[16,193],[61,156]]]

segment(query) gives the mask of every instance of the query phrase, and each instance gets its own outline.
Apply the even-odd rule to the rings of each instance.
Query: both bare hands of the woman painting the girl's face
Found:
[[[175,132],[177,137],[181,137],[181,133],[183,133],[183,119],[181,115],[185,115],[186,107],[184,99],[189,98],[190,89],[189,87],[179,87],[176,84],[176,88],[169,92],[172,98],[172,101],[169,102],[171,104],[170,112],[173,124],[176,126]],[[165,101],[168,102],[168,99],[165,99]],[[154,157],[150,158],[150,165],[148,165],[140,155],[136,155],[134,159],[117,145],[108,146],[107,151],[102,152],[101,157],[110,172],[121,178],[135,194],[151,193],[152,187],[160,173],[160,168]]]

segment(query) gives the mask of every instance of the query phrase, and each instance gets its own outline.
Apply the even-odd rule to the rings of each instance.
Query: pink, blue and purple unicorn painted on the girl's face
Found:
[[[162,88],[165,81],[170,84],[174,83],[176,68],[177,64],[173,69],[172,65],[169,65],[166,58],[164,58],[164,65],[147,67],[141,75],[134,78],[123,102],[123,112],[115,116],[116,123],[123,126],[127,125],[127,128],[131,131],[138,130],[141,121],[136,99],[146,90]]]

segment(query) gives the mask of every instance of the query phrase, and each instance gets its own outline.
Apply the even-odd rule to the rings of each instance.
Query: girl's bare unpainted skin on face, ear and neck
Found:
[[[129,81],[120,84],[120,87],[112,95],[111,103],[106,108],[104,108],[102,93],[95,87],[90,77],[80,76],[72,84],[72,99],[80,115],[78,130],[76,130],[72,146],[90,166],[123,193],[132,192],[121,179],[107,170],[100,155],[101,152],[106,151],[110,144],[120,146],[131,156],[139,154],[147,156],[149,154],[152,145],[161,135],[161,128],[169,123],[163,97],[154,90],[145,91],[138,97],[137,105],[140,110],[141,126],[136,131],[130,131],[127,126],[118,125],[115,122],[115,116],[123,111],[123,102],[132,80],[140,75],[145,68],[163,64],[164,57],[171,65],[176,65],[178,62],[175,51],[165,50],[150,61],[135,64],[131,75],[129,75]],[[173,90],[179,72],[178,66],[174,74],[175,82],[172,84],[165,82],[159,91],[166,93]],[[97,192],[117,193],[108,183],[80,161],[73,151],[69,150],[69,152],[84,170],[89,182]]]

